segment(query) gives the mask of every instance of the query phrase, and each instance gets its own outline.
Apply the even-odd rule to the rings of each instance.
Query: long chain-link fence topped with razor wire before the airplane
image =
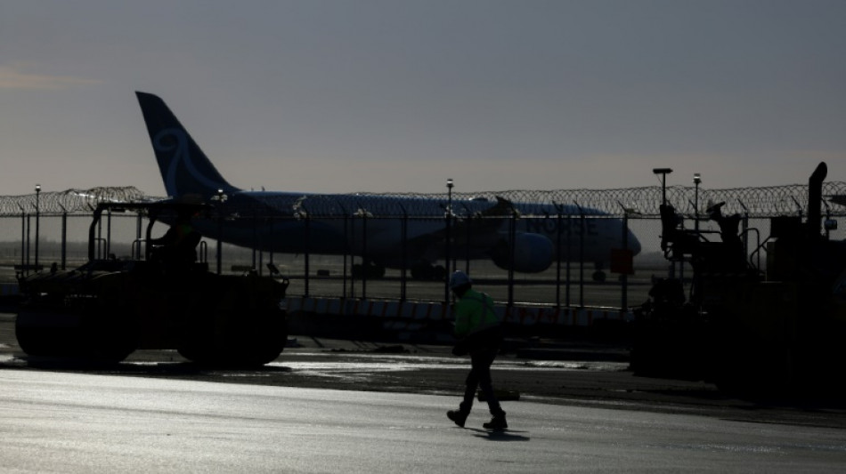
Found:
[[[762,244],[769,236],[768,218],[785,214],[801,215],[807,207],[808,194],[807,187],[801,185],[777,189],[704,190],[671,187],[666,190],[668,202],[685,214],[684,225],[689,229],[698,225],[701,229],[712,230],[715,236],[719,235],[717,226],[705,220],[704,212],[701,211],[710,203],[725,202],[722,209],[724,214],[739,213],[743,217],[741,229],[747,255],[752,264],[761,269],[766,266],[766,253]],[[846,183],[826,183],[823,193],[824,196],[842,196],[846,194]],[[366,212],[362,212],[356,205],[352,195],[321,195],[308,197],[307,214],[278,217],[257,210],[252,215],[242,213],[238,225],[247,229],[247,232],[253,229],[254,245],[219,244],[219,234],[214,230],[215,217],[207,216],[212,226],[210,231],[205,232],[199,253],[212,271],[243,272],[254,269],[261,274],[268,274],[271,268],[278,269],[282,276],[290,280],[290,296],[445,301],[449,297],[445,276],[452,269],[463,269],[474,278],[478,287],[490,293],[497,301],[558,307],[625,308],[645,301],[656,277],[691,275],[691,270],[685,265],[672,268],[661,253],[661,222],[657,214],[662,194],[662,189],[658,187],[555,191],[546,194],[525,191],[456,194],[456,205],[453,206],[449,220],[453,235],[442,236],[443,242],[448,245],[445,245],[443,253],[435,261],[432,273],[415,273],[413,261],[401,261],[402,265],[384,270],[373,269],[370,265],[370,261],[378,260],[375,257],[380,252],[380,245],[384,245],[384,242],[378,242],[377,238],[372,237],[373,229],[386,229],[395,235],[404,236],[410,223],[415,221],[443,223],[448,220],[443,213],[410,213],[409,203],[415,201],[409,199],[409,196],[397,196],[395,201],[386,201],[384,209],[367,209]],[[443,199],[443,195],[428,197]],[[488,217],[501,222],[499,232],[543,229],[552,241],[557,257],[549,268],[535,273],[521,273],[513,271],[513,260],[508,260],[515,258],[513,248],[500,249],[503,252],[501,255],[505,256],[500,255],[499,259],[480,258],[472,252],[472,249],[484,245],[475,242],[476,238],[481,237],[469,230],[472,226],[468,222],[486,218],[469,213],[462,215],[460,203],[479,198],[491,199],[493,202],[496,197],[505,197],[515,203],[574,203],[578,208],[590,208],[591,214],[559,212],[550,215],[548,211],[541,211],[541,207],[538,207],[536,213],[525,207],[529,212],[523,215]],[[137,190],[126,188],[0,197],[0,278],[13,282],[15,273],[35,271],[53,264],[61,269],[72,269],[83,264],[88,257],[87,238],[96,203],[102,200],[137,202],[146,199],[148,197]],[[390,205],[392,202],[393,206]],[[264,209],[268,203],[262,204]],[[557,208],[565,209],[564,206]],[[696,219],[697,211],[702,219]],[[829,205],[827,202],[823,211],[831,219],[843,215],[842,206]],[[225,225],[232,225],[232,219],[232,214],[227,214]],[[602,261],[584,258],[585,249],[595,244],[591,240],[596,237],[590,234],[591,226],[605,221],[621,223],[622,229],[629,229],[639,240],[640,252],[634,257],[633,272],[630,274],[612,272],[611,255]],[[109,258],[111,255],[113,258],[128,259],[142,255],[140,243],[148,223],[146,217],[134,213],[107,214],[94,229],[96,256]],[[297,237],[300,245],[296,253],[257,250],[271,248],[266,241],[279,237],[273,235],[273,230],[263,229],[281,229],[292,223],[296,223],[300,229]],[[351,243],[348,252],[338,255],[321,253],[320,237],[316,230],[320,225],[342,229],[341,234]],[[166,229],[166,225],[157,223],[153,230],[154,237],[162,235]],[[466,234],[462,234],[465,229]],[[610,248],[622,249],[630,245],[624,241],[623,235],[605,236],[612,240]],[[832,230],[830,237],[844,238],[843,230]],[[415,242],[411,238],[402,239],[395,245],[401,247],[400,255],[403,252],[414,254],[412,247]],[[443,255],[449,255],[449,258],[444,259]]]

